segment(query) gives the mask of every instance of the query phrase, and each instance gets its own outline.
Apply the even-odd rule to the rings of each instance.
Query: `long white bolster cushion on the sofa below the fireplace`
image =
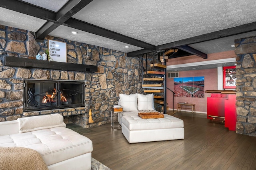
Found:
[[[22,117],[17,119],[19,122],[19,133],[49,129],[53,127],[66,127],[63,116],[59,113],[51,115],[40,115],[31,117]]]

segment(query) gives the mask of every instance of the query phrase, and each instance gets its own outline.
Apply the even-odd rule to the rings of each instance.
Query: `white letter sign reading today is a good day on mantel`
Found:
[[[67,62],[67,43],[48,39],[49,61]]]

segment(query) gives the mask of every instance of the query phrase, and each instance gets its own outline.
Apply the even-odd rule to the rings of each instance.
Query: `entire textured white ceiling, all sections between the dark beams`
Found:
[[[2,2],[1,2],[2,1]],[[90,2],[90,0],[1,0],[0,24],[37,32],[46,24],[46,19],[30,14],[22,14],[6,4],[26,2],[32,6],[45,8],[58,14],[68,4]],[[75,2],[75,3],[74,3]],[[28,5],[29,5],[28,4]],[[29,8],[32,9],[32,8]],[[234,39],[256,35],[256,28],[251,32],[210,41],[198,41],[201,36],[239,25],[256,21],[256,3],[254,0],[92,0],[78,11],[70,10],[71,17],[131,37],[138,41],[159,46],[175,41],[193,39],[188,43],[203,53],[217,53],[233,50]],[[13,11],[15,10],[15,11]],[[34,11],[35,12],[35,11]],[[43,14],[42,14],[43,15]],[[58,16],[58,15],[57,15]],[[76,35],[71,31],[77,31]],[[102,37],[67,25],[58,25],[48,33],[55,37],[80,41],[87,44],[106,47],[125,53],[142,50],[130,41],[120,42],[115,38]],[[221,34],[219,37],[223,37]],[[199,43],[198,43],[199,42]],[[126,48],[125,46],[129,46]]]

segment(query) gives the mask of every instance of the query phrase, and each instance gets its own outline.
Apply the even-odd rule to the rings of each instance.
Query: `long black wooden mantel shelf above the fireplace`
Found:
[[[98,67],[86,64],[62,63],[56,61],[35,60],[20,57],[5,57],[5,66],[27,67],[27,68],[45,68],[53,70],[97,72]]]

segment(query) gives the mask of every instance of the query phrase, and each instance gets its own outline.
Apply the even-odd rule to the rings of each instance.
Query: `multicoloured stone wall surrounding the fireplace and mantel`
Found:
[[[5,56],[28,58],[35,57],[37,53],[42,55],[48,47],[48,39],[67,43],[68,63],[97,65],[98,72],[4,66]],[[66,123],[74,122],[83,127],[98,126],[110,123],[111,106],[118,104],[120,93],[142,93],[141,59],[129,58],[126,53],[58,37],[48,36],[43,41],[37,41],[33,32],[4,25],[0,25],[0,46],[0,121],[60,113],[67,116]],[[24,79],[85,81],[86,105],[82,108],[24,112],[22,95]],[[91,124],[88,123],[89,96],[92,96],[94,118],[94,123]]]

